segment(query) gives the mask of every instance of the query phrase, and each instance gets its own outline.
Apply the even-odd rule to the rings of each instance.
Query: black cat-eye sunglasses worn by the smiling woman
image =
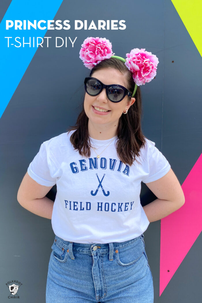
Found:
[[[107,98],[111,102],[120,102],[127,95],[131,98],[131,93],[122,85],[105,85],[100,80],[93,77],[86,77],[84,80],[85,91],[90,96],[97,96],[103,88],[106,88]]]

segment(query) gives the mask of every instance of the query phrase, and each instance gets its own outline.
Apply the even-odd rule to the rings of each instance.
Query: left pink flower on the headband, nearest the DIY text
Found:
[[[106,38],[88,37],[81,45],[79,58],[84,62],[84,65],[92,69],[96,64],[104,59],[108,59],[112,55],[111,42]]]

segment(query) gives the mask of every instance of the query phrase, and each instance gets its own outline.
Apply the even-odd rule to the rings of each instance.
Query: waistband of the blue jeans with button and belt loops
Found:
[[[87,253],[90,255],[93,254],[101,254],[105,252],[109,252],[109,260],[113,261],[113,252],[116,249],[123,248],[125,246],[128,246],[135,241],[137,241],[139,238],[144,239],[144,235],[140,235],[137,238],[127,240],[124,242],[111,242],[111,243],[77,243],[72,241],[65,241],[62,238],[55,235],[55,242],[57,242],[57,245],[62,249],[66,248],[69,252],[69,255],[71,259],[74,260],[73,251],[81,252],[81,253]]]

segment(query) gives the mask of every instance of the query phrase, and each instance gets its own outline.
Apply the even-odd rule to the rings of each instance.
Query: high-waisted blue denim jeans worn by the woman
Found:
[[[46,303],[153,303],[144,235],[124,242],[84,244],[55,236]]]

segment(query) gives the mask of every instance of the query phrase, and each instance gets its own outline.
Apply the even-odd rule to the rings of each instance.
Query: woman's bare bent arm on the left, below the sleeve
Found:
[[[45,195],[52,186],[38,184],[26,172],[18,189],[17,200],[28,211],[43,218],[51,219],[54,202]]]

